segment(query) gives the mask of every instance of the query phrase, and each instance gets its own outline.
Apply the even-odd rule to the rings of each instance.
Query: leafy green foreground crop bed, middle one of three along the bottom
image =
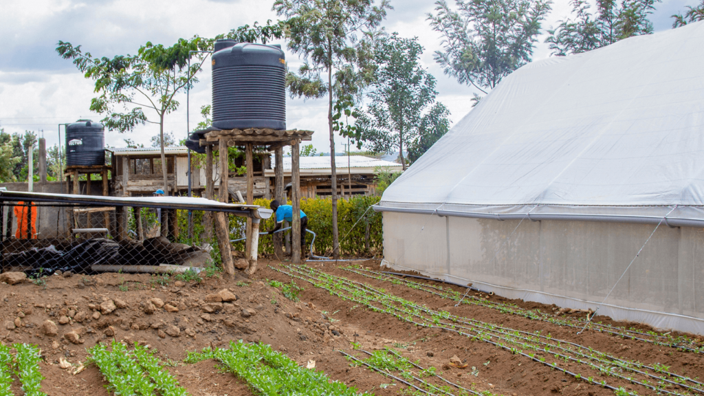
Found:
[[[130,352],[125,345],[113,340],[112,350],[99,343],[88,352],[88,361],[98,366],[108,382],[106,388],[115,395],[188,395],[146,347],[135,344],[134,351]]]

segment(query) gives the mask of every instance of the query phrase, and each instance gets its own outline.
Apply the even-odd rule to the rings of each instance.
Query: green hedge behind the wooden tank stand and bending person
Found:
[[[254,204],[269,207],[271,199],[255,199]],[[367,255],[371,252],[382,249],[382,215],[370,209],[370,206],[377,204],[379,197],[353,197],[351,199],[338,199],[337,201],[337,224],[340,238],[340,252],[348,255]],[[291,204],[289,201],[288,204]],[[368,209],[368,210],[367,210]],[[332,254],[332,200],[323,198],[303,198],[301,199],[301,210],[308,216],[308,229],[312,230],[315,237],[315,254]],[[179,222],[179,242],[186,244],[202,245],[210,243],[214,248],[218,247],[215,241],[215,232],[211,240],[204,240],[203,213],[194,213],[194,240],[188,239],[188,211],[178,211]],[[356,226],[355,226],[355,223]],[[246,218],[230,216],[230,239],[235,240],[244,237]],[[370,252],[365,247],[365,228],[369,224]],[[275,226],[275,219],[261,221],[260,231],[271,230]],[[287,231],[286,233],[290,233]],[[313,235],[306,233],[306,242],[310,245]],[[244,240],[234,242],[235,250],[244,252]],[[270,235],[259,236],[259,253],[272,254],[274,245]],[[218,260],[219,261],[219,260]]]

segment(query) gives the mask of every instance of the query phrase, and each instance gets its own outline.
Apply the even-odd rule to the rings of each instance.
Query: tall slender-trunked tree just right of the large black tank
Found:
[[[298,75],[289,73],[292,97],[322,98],[327,94],[327,120],[332,168],[332,245],[339,256],[337,171],[332,108],[335,99],[351,99],[369,82],[368,62],[379,24],[391,9],[389,0],[276,0],[273,9],[285,21],[288,47],[303,57]],[[327,82],[321,74],[327,74]]]

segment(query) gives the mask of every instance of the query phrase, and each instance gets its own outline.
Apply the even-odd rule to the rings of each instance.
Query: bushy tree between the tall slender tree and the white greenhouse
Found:
[[[420,132],[423,115],[437,96],[435,78],[420,66],[422,53],[416,38],[396,33],[377,42],[377,70],[367,95],[371,104],[356,123],[356,137],[374,151],[396,149],[404,171],[403,149]]]

